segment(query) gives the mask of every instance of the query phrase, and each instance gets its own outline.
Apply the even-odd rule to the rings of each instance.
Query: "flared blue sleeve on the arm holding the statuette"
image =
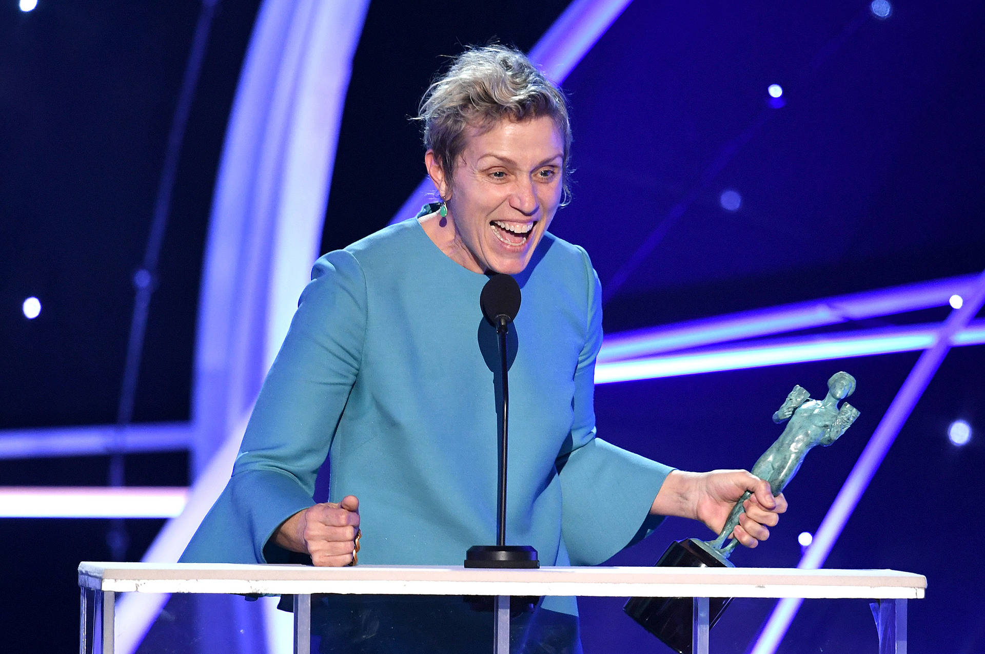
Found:
[[[653,499],[673,468],[596,437],[595,360],[602,347],[602,289],[584,255],[589,307],[574,373],[574,420],[558,458],[561,536],[572,565],[595,565],[647,536],[663,520]]]

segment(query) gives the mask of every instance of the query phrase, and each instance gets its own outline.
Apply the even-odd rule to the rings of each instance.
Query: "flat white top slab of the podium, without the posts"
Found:
[[[79,585],[117,593],[920,599],[927,578],[896,570],[771,567],[489,569],[83,561]]]

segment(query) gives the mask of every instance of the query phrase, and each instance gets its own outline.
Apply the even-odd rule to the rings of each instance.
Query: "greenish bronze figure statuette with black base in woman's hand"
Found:
[[[847,372],[837,372],[827,380],[827,396],[812,400],[801,386],[794,386],[783,406],[773,414],[776,424],[790,421],[783,433],[755,462],[752,473],[769,482],[774,495],[780,494],[793,479],[808,451],[815,445],[830,445],[855,422],[859,412],[847,402],[838,408],[838,402],[855,390],[855,377]],[[660,557],[657,565],[674,567],[734,567],[729,555],[737,541],[726,539],[739,524],[743,502],[750,496],[746,492],[729,513],[725,527],[713,541],[686,541],[672,543]],[[709,626],[713,626],[732,598],[710,598]],[[671,649],[681,654],[691,651],[691,621],[693,598],[689,597],[632,597],[623,610],[647,631],[663,640]]]

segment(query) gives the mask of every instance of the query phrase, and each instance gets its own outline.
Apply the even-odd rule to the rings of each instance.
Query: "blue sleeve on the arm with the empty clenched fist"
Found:
[[[268,541],[313,502],[315,477],[360,370],[365,297],[352,254],[332,252],[316,262],[257,398],[230,483],[182,560],[289,559]]]

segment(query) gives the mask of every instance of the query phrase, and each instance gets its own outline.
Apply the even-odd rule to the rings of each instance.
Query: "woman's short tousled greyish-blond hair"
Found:
[[[554,120],[564,141],[563,206],[570,201],[567,102],[523,52],[498,44],[468,48],[427,88],[417,119],[425,125],[425,148],[434,152],[450,183],[455,160],[465,149],[466,128],[492,129],[503,118],[539,116]]]

